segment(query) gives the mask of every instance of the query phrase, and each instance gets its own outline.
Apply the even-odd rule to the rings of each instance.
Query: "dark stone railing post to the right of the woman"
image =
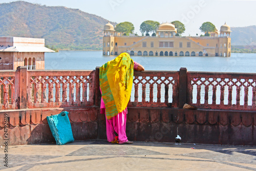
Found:
[[[183,108],[187,99],[187,68],[180,68],[179,73],[179,108]]]

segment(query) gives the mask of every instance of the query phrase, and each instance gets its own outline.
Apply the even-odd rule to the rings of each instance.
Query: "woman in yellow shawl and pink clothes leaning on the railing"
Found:
[[[144,67],[134,62],[128,53],[121,53],[100,67],[100,113],[105,114],[106,137],[112,143],[133,143],[127,139],[125,129],[134,70],[143,71]]]

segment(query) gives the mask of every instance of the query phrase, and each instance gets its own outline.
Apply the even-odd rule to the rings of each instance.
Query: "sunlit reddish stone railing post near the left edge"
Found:
[[[17,67],[19,71],[19,109],[27,108],[27,67]]]

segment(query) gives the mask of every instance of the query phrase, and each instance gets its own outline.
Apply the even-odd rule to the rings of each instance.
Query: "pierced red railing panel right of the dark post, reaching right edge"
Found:
[[[187,103],[200,108],[255,110],[253,73],[187,73]]]

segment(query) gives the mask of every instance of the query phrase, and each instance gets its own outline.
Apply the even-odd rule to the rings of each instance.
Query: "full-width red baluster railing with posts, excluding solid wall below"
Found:
[[[1,109],[99,106],[96,70],[0,71]],[[256,75],[180,71],[135,71],[129,107],[256,110]]]

